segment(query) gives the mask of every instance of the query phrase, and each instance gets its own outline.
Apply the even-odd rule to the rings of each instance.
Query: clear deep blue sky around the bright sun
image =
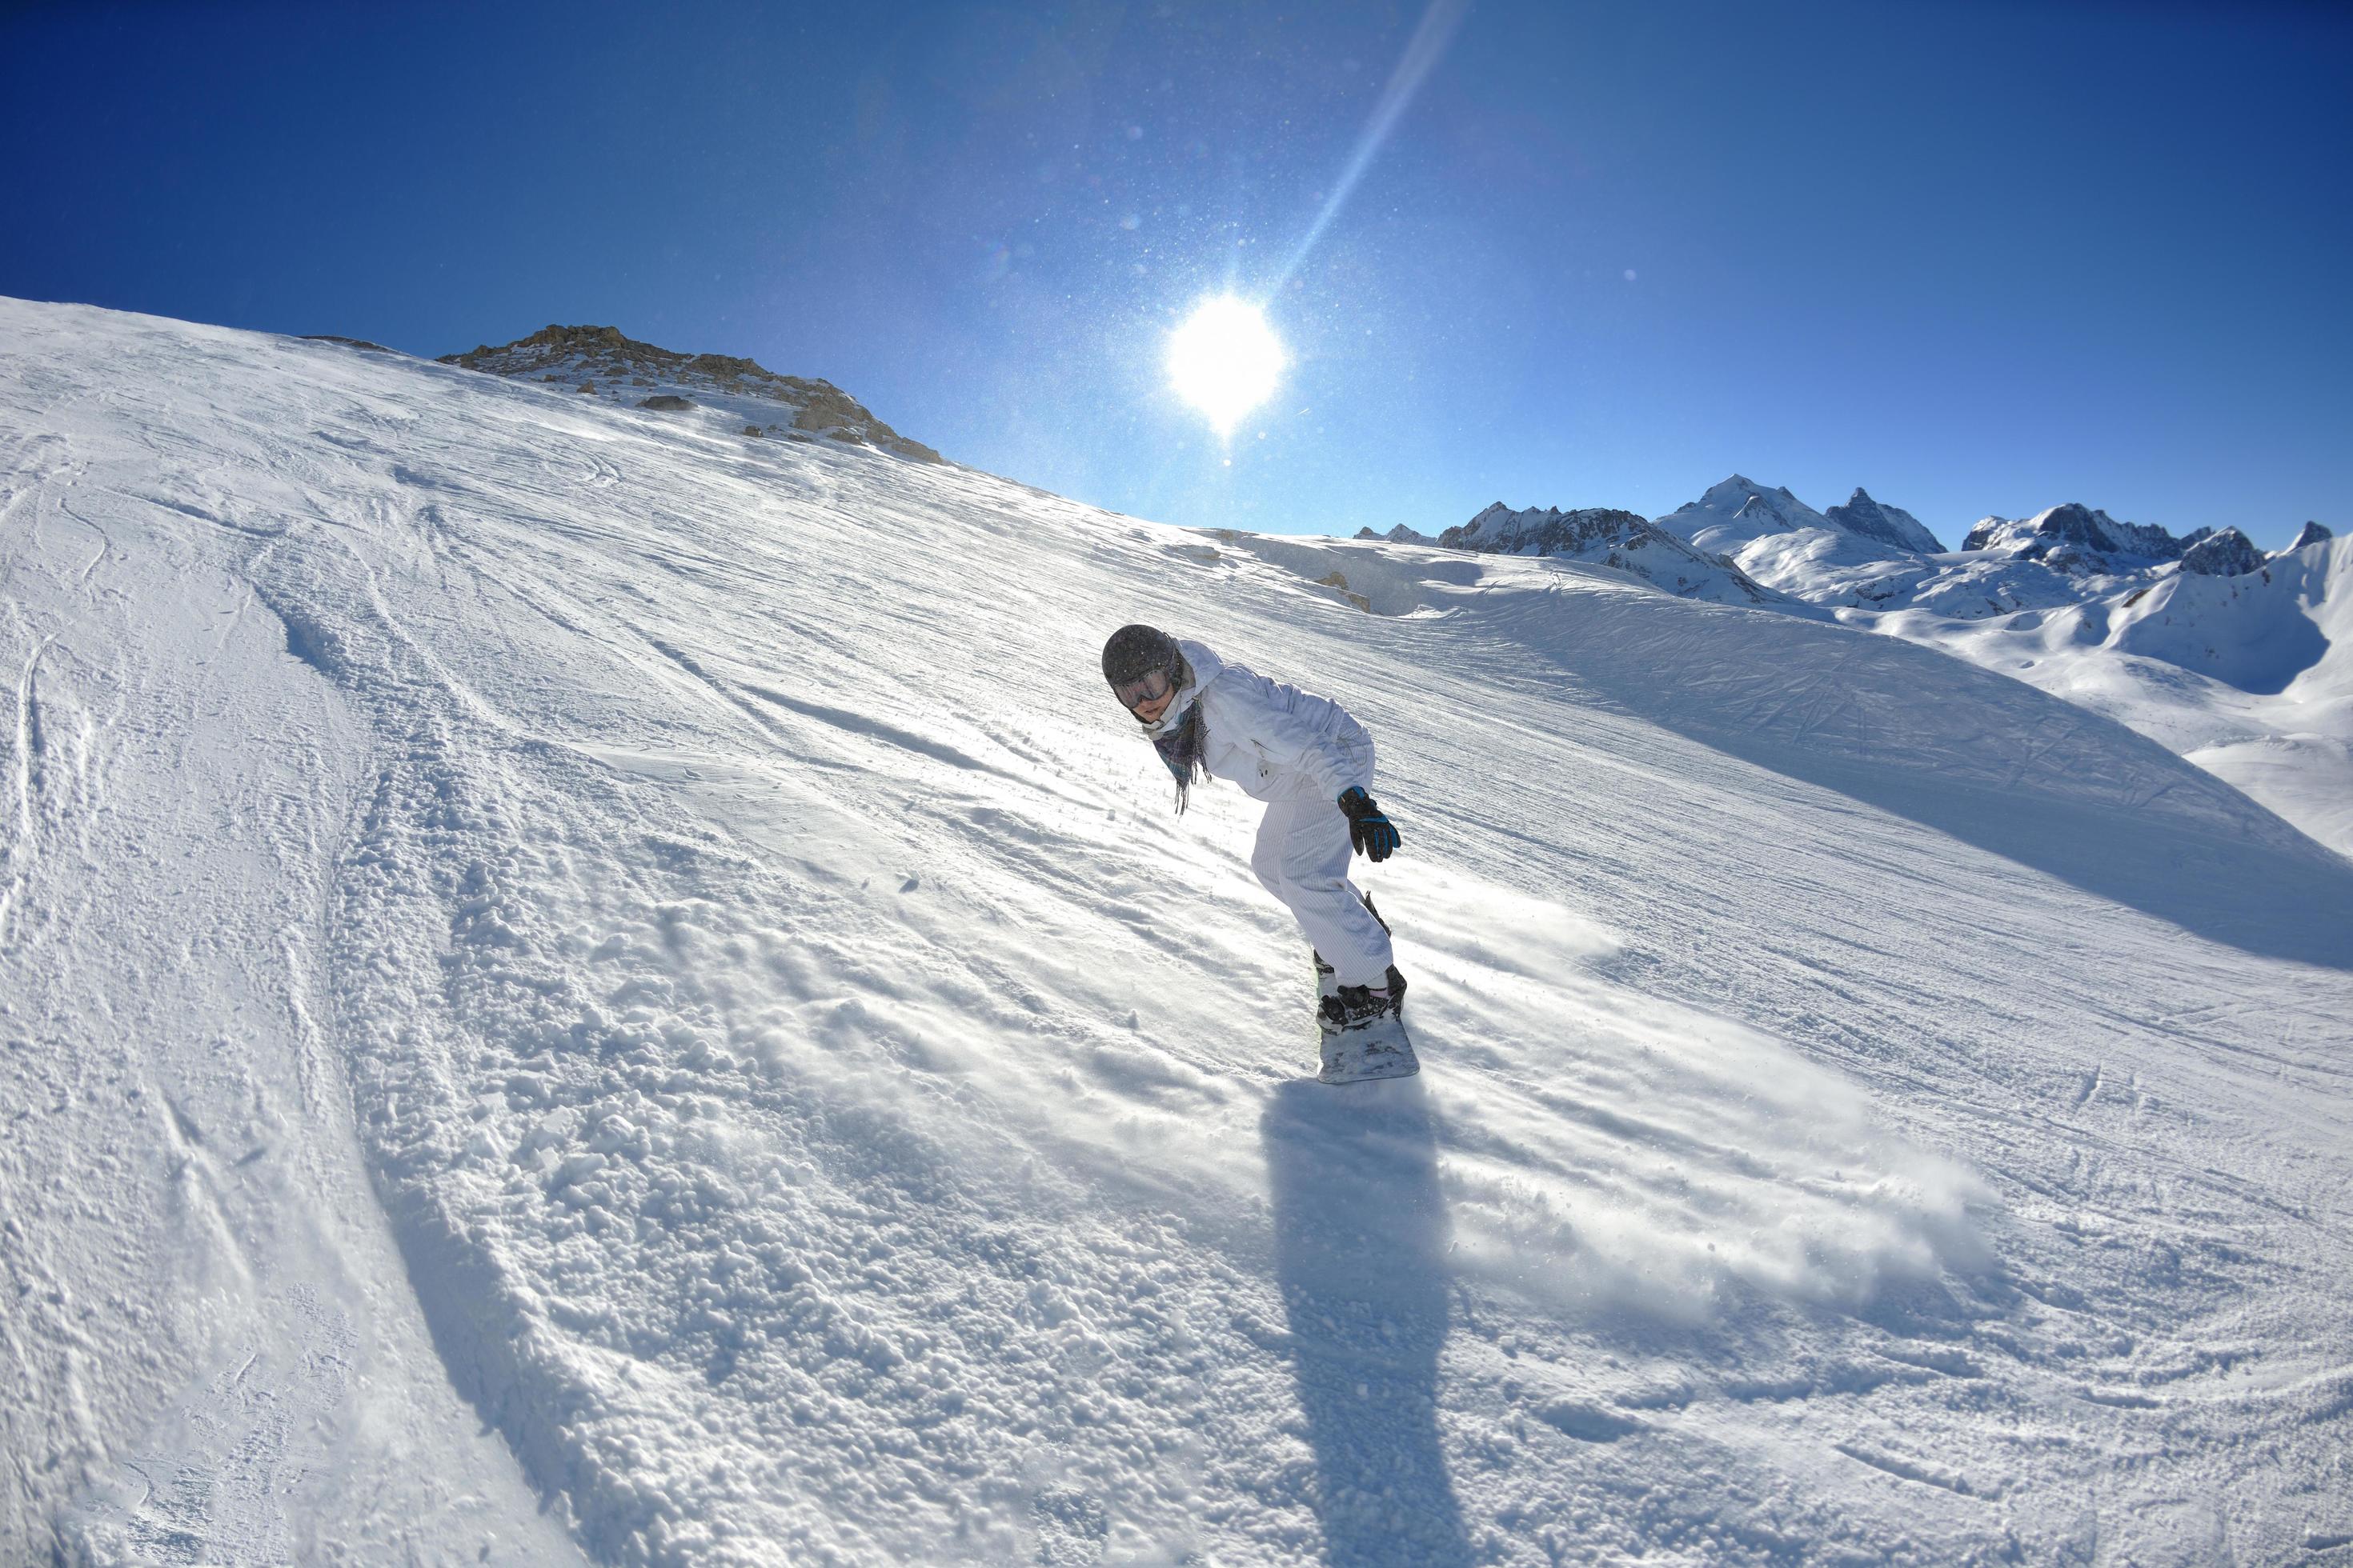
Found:
[[[1487,0],[1275,287],[1421,14],[19,9],[0,294],[616,324],[1172,522],[2353,524],[2346,7]],[[1226,287],[1292,353],[1231,449],[1162,374]]]

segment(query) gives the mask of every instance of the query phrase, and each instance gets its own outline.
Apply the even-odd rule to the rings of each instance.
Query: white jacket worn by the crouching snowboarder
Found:
[[[1339,799],[1351,785],[1372,792],[1372,736],[1346,708],[1228,665],[1198,642],[1176,649],[1193,679],[1146,733],[1169,733],[1198,703],[1209,731],[1200,762],[1212,778],[1257,799]]]

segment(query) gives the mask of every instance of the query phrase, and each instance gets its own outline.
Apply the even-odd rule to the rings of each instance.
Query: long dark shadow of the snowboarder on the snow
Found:
[[[1447,1215],[1421,1084],[1285,1084],[1259,1133],[1325,1561],[1468,1563],[1438,1441]]]

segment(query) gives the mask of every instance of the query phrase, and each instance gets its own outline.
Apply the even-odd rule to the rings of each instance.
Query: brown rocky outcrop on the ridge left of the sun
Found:
[[[786,440],[831,437],[854,447],[880,447],[920,463],[941,456],[908,440],[824,378],[779,376],[739,355],[685,355],[626,336],[619,327],[548,324],[527,339],[492,348],[468,348],[442,355],[442,364],[565,386],[605,402],[685,414],[696,407],[718,409],[744,435],[779,435]],[[776,411],[786,418],[776,418]]]

